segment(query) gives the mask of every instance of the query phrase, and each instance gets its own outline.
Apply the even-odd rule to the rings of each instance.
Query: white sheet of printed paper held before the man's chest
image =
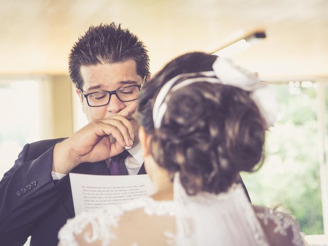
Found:
[[[70,173],[75,215],[82,211],[101,209],[128,202],[154,193],[147,174],[142,175],[88,175]]]

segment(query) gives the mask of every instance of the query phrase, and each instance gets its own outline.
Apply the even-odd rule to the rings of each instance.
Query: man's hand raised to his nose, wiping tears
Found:
[[[134,129],[130,118],[134,102],[117,115],[91,121],[84,128],[54,147],[52,171],[67,174],[82,162],[96,162],[115,156],[131,147]]]

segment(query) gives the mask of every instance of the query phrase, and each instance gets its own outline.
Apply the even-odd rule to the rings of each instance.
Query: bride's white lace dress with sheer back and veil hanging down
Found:
[[[149,197],[84,212],[69,219],[58,238],[62,246],[304,245],[291,216],[253,207],[241,186],[191,197],[176,181],[174,200]]]

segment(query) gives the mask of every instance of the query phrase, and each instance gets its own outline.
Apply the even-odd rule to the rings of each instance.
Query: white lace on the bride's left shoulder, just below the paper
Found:
[[[101,245],[108,245],[115,238],[115,235],[110,232],[109,228],[117,228],[120,217],[125,212],[139,208],[144,208],[144,212],[148,215],[175,215],[173,201],[155,201],[150,197],[136,199],[118,206],[109,206],[106,209],[83,212],[75,218],[68,219],[65,226],[58,233],[60,243],[63,246],[78,246],[74,235],[83,233],[86,227],[90,225],[92,232],[83,235],[86,242],[92,243],[101,240]],[[138,244],[133,244],[133,246],[136,245]]]

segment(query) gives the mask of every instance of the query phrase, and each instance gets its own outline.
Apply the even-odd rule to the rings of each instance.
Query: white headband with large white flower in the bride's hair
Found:
[[[277,119],[278,103],[275,98],[275,92],[268,84],[263,83],[257,77],[257,74],[236,66],[232,60],[226,57],[217,57],[213,63],[213,71],[199,73],[179,74],[170,79],[157,94],[153,107],[154,127],[160,128],[162,118],[167,110],[167,95],[170,91],[176,91],[182,87],[195,82],[220,83],[223,85],[234,86],[250,92],[250,97],[259,108],[261,115],[265,119],[268,128],[273,126]],[[190,77],[174,84],[182,77]]]

